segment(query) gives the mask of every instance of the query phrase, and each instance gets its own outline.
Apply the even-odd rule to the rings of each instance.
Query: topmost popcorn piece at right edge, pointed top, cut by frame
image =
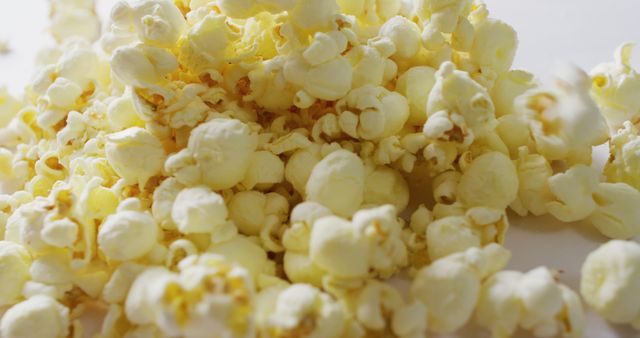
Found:
[[[614,61],[602,63],[591,70],[591,94],[614,133],[623,128],[625,121],[638,122],[640,99],[640,74],[631,67],[633,44],[620,45],[614,53]]]

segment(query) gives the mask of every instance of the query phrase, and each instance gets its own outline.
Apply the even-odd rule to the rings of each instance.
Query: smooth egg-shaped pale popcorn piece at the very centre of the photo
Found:
[[[362,160],[347,150],[337,150],[314,166],[305,187],[306,197],[348,217],[362,204],[364,181]]]

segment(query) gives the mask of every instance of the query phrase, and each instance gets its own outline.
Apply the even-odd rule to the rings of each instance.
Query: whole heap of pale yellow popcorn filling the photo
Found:
[[[0,91],[3,338],[579,337],[581,299],[640,329],[630,44],[543,84],[477,0],[51,6]],[[508,209],[613,239],[579,293],[502,271]]]

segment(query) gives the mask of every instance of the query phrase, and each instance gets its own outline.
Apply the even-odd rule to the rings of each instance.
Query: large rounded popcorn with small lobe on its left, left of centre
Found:
[[[165,170],[184,184],[228,189],[244,178],[257,143],[257,136],[239,120],[214,119],[191,132],[188,147],[169,156]]]

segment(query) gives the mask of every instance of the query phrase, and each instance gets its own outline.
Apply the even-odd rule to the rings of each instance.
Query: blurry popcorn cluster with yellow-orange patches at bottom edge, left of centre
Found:
[[[155,323],[165,335],[251,337],[252,302],[247,272],[205,254],[183,260],[179,273],[152,268],[140,274],[125,313],[134,323]]]

